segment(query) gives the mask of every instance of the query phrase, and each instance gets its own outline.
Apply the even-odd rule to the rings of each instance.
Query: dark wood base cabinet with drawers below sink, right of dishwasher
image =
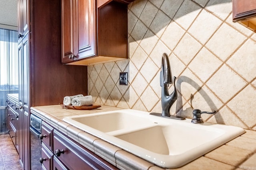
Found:
[[[42,123],[42,169],[45,170],[111,170],[117,169],[106,160],[73,141],[60,131]],[[52,130],[51,130],[52,129]],[[47,133],[43,133],[47,132]],[[52,134],[52,135],[50,135]],[[50,141],[47,139],[52,137]],[[52,143],[51,146],[44,141]]]

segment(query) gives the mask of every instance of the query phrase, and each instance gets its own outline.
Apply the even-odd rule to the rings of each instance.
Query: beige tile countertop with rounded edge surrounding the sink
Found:
[[[162,168],[111,145],[62,121],[64,117],[122,108],[101,106],[93,110],[63,109],[60,105],[31,107],[31,113],[66,134],[74,141],[120,169],[160,170]],[[245,129],[246,130],[246,129]],[[176,170],[256,170],[256,131],[246,133]]]

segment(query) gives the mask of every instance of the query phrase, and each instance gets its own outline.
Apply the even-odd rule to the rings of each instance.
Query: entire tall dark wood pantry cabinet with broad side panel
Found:
[[[30,169],[30,107],[62,104],[64,96],[87,95],[87,67],[61,63],[60,9],[59,0],[18,1],[22,36],[18,42],[17,134],[24,170]]]

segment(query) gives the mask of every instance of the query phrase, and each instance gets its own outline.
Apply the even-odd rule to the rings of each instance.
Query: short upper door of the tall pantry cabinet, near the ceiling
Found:
[[[18,0],[18,38],[21,41],[30,30],[30,0]]]

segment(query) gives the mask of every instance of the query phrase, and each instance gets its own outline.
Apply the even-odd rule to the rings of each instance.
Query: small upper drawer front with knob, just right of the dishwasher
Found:
[[[42,134],[42,142],[48,147],[48,149],[52,150],[52,131],[53,127],[42,121],[41,134]]]

